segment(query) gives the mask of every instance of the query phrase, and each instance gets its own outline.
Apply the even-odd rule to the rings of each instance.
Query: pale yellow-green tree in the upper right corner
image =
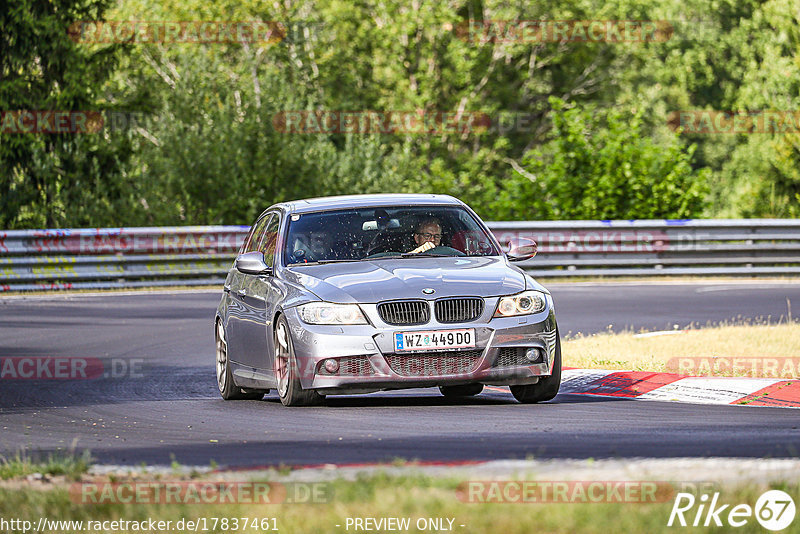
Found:
[[[794,0],[661,2],[649,16],[669,20],[667,42],[633,50],[618,103],[648,110],[652,132],[668,111],[800,109],[800,14]],[[692,165],[708,168],[706,216],[800,215],[797,133],[695,134]]]

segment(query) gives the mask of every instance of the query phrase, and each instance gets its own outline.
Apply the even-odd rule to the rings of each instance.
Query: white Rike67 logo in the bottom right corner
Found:
[[[719,492],[709,497],[703,493],[695,497],[691,493],[678,493],[669,514],[667,526],[693,527],[742,527],[753,517],[767,530],[783,530],[792,524],[795,516],[792,497],[780,490],[769,490],[756,501],[755,507],[749,504],[730,504],[719,502]]]

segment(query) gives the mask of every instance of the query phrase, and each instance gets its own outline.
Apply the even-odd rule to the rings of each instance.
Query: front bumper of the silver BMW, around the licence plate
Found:
[[[362,308],[372,324],[309,325],[300,320],[295,308],[285,311],[304,389],[336,394],[475,382],[534,384],[553,372],[557,333],[549,303],[541,313],[523,317],[491,318],[493,308],[487,306],[488,316],[473,322],[414,327],[385,325],[374,306]],[[395,352],[395,332],[462,328],[475,329],[474,349]],[[538,349],[539,357],[533,362],[526,358],[530,349]],[[328,358],[339,363],[336,373],[324,369]]]

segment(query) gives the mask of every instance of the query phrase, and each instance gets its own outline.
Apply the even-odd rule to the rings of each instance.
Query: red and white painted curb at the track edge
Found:
[[[800,380],[564,369],[560,393],[641,400],[800,408]]]

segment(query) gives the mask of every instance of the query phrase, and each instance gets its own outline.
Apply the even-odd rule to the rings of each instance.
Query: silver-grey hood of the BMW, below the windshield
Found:
[[[365,260],[293,265],[287,282],[329,302],[375,303],[389,299],[459,295],[498,296],[525,289],[525,275],[502,257],[446,257]],[[426,295],[423,289],[435,290]]]

